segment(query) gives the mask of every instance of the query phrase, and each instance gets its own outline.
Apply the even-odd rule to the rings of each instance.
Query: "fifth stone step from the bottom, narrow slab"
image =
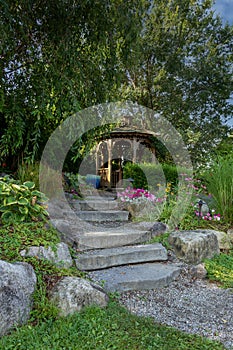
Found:
[[[93,199],[93,200],[73,200],[72,206],[74,208],[80,208],[80,210],[117,210],[118,202],[114,200],[103,200],[103,199]]]

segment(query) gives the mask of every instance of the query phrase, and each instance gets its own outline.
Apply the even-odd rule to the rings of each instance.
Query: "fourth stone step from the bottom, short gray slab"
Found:
[[[82,210],[76,211],[76,215],[85,221],[128,221],[129,212],[121,211],[121,210],[105,210],[105,211],[90,211],[90,210]]]

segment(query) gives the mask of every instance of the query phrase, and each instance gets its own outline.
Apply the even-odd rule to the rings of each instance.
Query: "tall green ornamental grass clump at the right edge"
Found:
[[[233,222],[233,156],[218,156],[204,173],[207,190],[216,210],[229,223]]]

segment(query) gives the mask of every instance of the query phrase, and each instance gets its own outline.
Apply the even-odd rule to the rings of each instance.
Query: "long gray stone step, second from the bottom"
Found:
[[[112,266],[166,261],[167,250],[160,243],[95,250],[75,259],[79,270],[91,271]]]

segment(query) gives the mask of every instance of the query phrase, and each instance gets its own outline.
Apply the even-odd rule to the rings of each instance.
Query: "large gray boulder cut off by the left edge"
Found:
[[[0,336],[27,322],[35,286],[31,265],[0,260]]]

